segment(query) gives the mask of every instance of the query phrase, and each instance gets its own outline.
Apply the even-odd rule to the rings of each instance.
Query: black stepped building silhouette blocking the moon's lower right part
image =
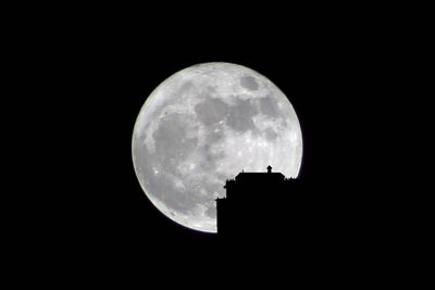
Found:
[[[301,194],[298,179],[272,172],[270,165],[264,173],[241,172],[226,180],[224,188],[226,197],[216,199],[221,239],[235,241],[259,239],[260,235],[276,236],[295,222],[294,215],[300,211],[295,209]]]

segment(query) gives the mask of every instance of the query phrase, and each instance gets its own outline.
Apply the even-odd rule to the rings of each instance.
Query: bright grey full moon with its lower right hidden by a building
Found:
[[[268,165],[297,177],[302,136],[290,102],[266,77],[203,63],[172,75],[147,98],[132,153],[157,209],[183,226],[216,232],[215,199],[225,196],[225,180]]]

